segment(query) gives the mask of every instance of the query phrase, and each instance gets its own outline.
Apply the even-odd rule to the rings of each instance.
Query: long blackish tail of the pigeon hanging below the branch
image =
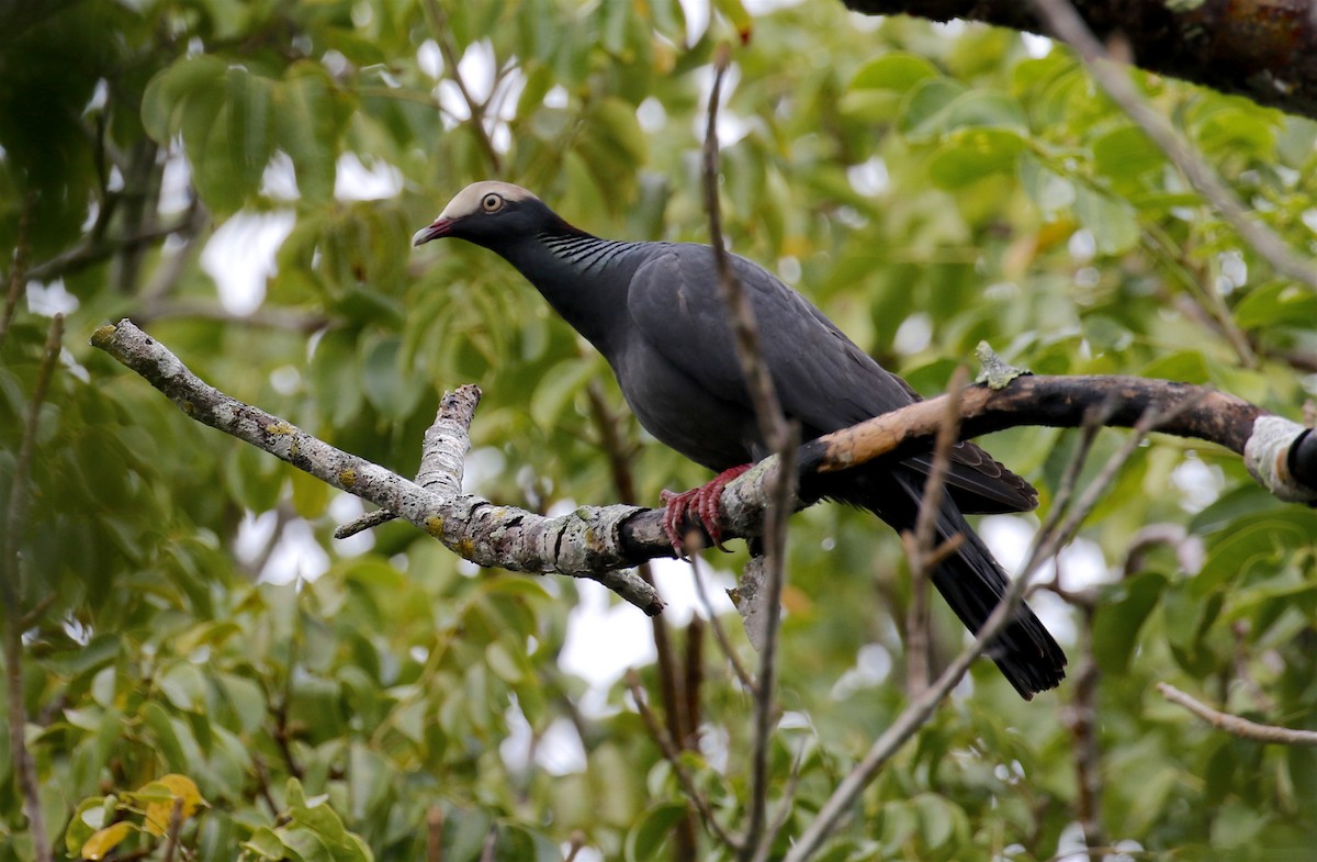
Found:
[[[863,477],[856,482],[857,489],[852,486],[849,493],[840,497],[873,510],[897,530],[910,530],[914,529],[923,481],[922,476],[897,468],[881,476]],[[855,490],[861,492],[861,498],[857,498]],[[965,627],[977,633],[1005,596],[1010,581],[988,546],[950,500],[942,503],[936,530],[940,540],[956,534],[965,536],[956,554],[934,569],[932,584]],[[988,647],[988,656],[1025,700],[1056,688],[1065,676],[1065,654],[1026,604],[1019,605],[1015,618]]]

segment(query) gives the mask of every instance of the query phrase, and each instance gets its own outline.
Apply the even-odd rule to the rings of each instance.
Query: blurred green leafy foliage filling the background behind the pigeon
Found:
[[[1317,388],[1317,299],[1241,245],[1067,51],[827,0],[714,5],[687,33],[677,0],[83,0],[7,32],[0,246],[21,246],[33,281],[0,344],[5,510],[46,315],[68,310],[30,518],[3,538],[21,554],[18,610],[36,614],[22,709],[59,854],[158,855],[146,812],[179,797],[203,861],[417,859],[437,836],[462,862],[490,834],[498,859],[558,859],[574,830],[582,859],[672,857],[672,768],[620,684],[582,712],[585,681],[558,668],[576,584],[473,573],[399,525],[340,551],[335,493],[188,420],[86,339],[133,316],[215,385],[403,473],[437,393],[475,381],[481,493],[614,501],[589,382],[624,411],[602,361],[491,254],[412,254],[408,236],[500,177],[605,236],[705,237],[719,41],[739,45],[731,244],[921,391],[980,340],[1038,372],[1205,382],[1289,415]],[[465,58],[483,125],[445,54]],[[1258,217],[1317,252],[1317,125],[1137,80]],[[385,190],[362,195],[363,170]],[[245,314],[212,275],[258,258],[257,225],[288,233]],[[645,443],[630,418],[622,435]],[[1094,461],[1119,439],[1104,432]],[[1044,513],[1075,444],[1042,428],[990,442]],[[631,463],[641,500],[705,478],[653,444]],[[238,540],[254,518],[274,531],[263,548]],[[1205,544],[1202,571],[1154,548],[1121,576],[1139,530],[1167,522]],[[839,507],[794,522],[770,795],[793,768],[799,787],[780,850],[905,701],[909,588],[873,526]],[[270,551],[308,529],[327,571],[288,584],[300,571]],[[1093,617],[1112,844],[1179,859],[1317,846],[1317,753],[1226,737],[1152,688],[1317,728],[1314,536],[1313,513],[1271,500],[1238,459],[1169,439],[1139,449],[1085,527],[1113,572]],[[935,623],[944,660],[963,633],[944,609]],[[739,826],[749,700],[705,656],[703,747],[685,757]],[[657,691],[655,668],[644,679]],[[1076,696],[1023,704],[980,663],[819,858],[1073,851]],[[500,747],[525,725],[529,754]],[[536,757],[551,732],[578,738],[583,763]],[[699,841],[699,858],[727,857]],[[30,853],[0,746],[0,861]]]

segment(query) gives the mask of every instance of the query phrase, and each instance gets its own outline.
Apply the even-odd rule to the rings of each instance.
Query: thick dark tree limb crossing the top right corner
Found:
[[[843,0],[864,14],[963,18],[1047,33],[1018,0]],[[1317,119],[1317,7],[1309,0],[1073,0],[1141,69]]]

